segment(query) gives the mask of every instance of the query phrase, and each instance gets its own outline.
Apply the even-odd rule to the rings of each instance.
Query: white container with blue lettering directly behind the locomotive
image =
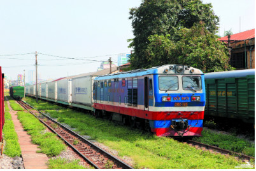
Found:
[[[92,75],[72,79],[72,103],[92,106]]]

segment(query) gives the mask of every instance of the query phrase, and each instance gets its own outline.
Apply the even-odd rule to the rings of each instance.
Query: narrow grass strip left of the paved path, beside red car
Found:
[[[20,156],[20,144],[18,143],[18,136],[14,129],[13,121],[11,120],[11,114],[8,111],[4,113],[4,154],[10,157]]]

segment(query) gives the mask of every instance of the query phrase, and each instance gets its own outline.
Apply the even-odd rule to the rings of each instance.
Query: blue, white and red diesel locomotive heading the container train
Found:
[[[204,74],[183,65],[164,65],[94,79],[94,113],[157,136],[201,136]]]

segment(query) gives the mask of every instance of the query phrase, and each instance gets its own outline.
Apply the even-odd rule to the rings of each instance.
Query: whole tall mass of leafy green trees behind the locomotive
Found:
[[[129,40],[131,42],[129,47],[134,49],[130,58],[132,68],[148,68],[166,63],[187,64],[187,62],[192,62],[190,60],[195,60],[192,58],[193,55],[194,57],[196,54],[208,55],[205,51],[204,55],[199,54],[200,50],[196,49],[201,47],[203,51],[206,45],[216,46],[216,48],[209,47],[208,49],[212,53],[209,56],[211,58],[214,56],[211,60],[217,62],[217,58],[220,60],[224,58],[224,61],[219,61],[221,66],[216,66],[216,70],[229,68],[227,55],[222,52],[225,47],[215,39],[214,34],[218,30],[219,20],[211,8],[211,4],[203,4],[201,0],[144,0],[138,8],[132,8],[129,17],[132,20],[134,33],[134,39]],[[195,24],[200,22],[203,25],[200,26],[201,32],[204,34],[195,30],[199,27]],[[192,29],[193,25],[194,29]],[[201,36],[193,35],[194,33],[201,34]],[[195,46],[189,48],[193,44]],[[214,49],[217,52],[214,52]],[[217,56],[217,54],[213,55],[214,53],[225,55]],[[184,58],[184,56],[187,57]],[[206,62],[199,59],[197,61]],[[192,63],[191,66],[196,66],[196,63]],[[205,71],[208,70],[205,66]]]

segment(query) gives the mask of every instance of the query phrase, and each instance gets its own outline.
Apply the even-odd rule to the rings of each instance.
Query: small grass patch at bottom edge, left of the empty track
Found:
[[[65,158],[51,158],[47,165],[49,169],[85,169],[85,167],[79,165],[79,160],[69,161]]]

